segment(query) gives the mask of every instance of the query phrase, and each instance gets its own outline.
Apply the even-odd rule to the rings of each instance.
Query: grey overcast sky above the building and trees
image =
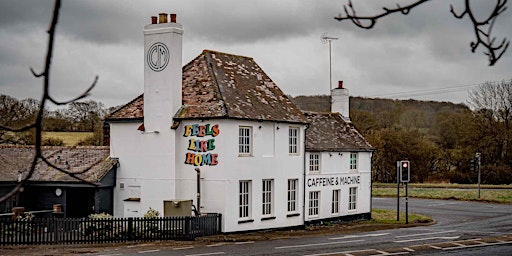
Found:
[[[354,2],[359,14],[382,7],[382,1]],[[365,30],[333,18],[343,0],[64,0],[51,93],[58,100],[70,99],[98,75],[89,99],[116,106],[140,95],[142,30],[151,16],[167,12],[176,13],[184,26],[183,65],[203,49],[244,55],[254,58],[286,94],[328,94],[329,48],[320,40],[326,33],[339,38],[332,42],[333,84],[343,80],[352,96],[465,103],[474,86],[512,78],[512,47],[489,67],[483,48],[471,53],[472,24],[453,17],[451,2],[462,10],[462,0],[434,0]],[[494,1],[473,2],[478,15],[494,6]],[[508,7],[493,30],[498,40],[512,39]],[[42,80],[29,68],[43,68],[52,8],[49,0],[0,3],[0,94],[40,97]]]

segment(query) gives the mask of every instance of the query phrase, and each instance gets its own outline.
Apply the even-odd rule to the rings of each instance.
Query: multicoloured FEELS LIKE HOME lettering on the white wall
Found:
[[[192,151],[188,152],[185,155],[185,164],[190,164],[194,166],[215,166],[219,164],[217,158],[218,154],[213,154],[209,151],[215,150],[215,137],[219,135],[219,125],[218,124],[193,124],[186,125],[185,131],[183,133],[183,137],[194,137],[188,140],[187,150]],[[205,138],[212,137],[212,138]],[[204,153],[204,154],[202,154]]]

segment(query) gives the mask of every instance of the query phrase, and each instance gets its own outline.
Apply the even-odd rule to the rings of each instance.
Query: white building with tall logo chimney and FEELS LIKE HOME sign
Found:
[[[316,186],[304,178],[333,175],[360,179],[357,210],[339,216],[369,212],[369,153],[358,155],[356,173],[329,167],[348,161],[348,153],[338,161],[323,156],[341,148],[312,147],[322,152],[325,168],[306,172],[309,116],[252,58],[205,50],[182,68],[183,28],[175,16],[170,23],[166,18],[145,26],[144,94],[106,120],[110,155],[120,163],[114,215],[142,216],[150,207],[165,214],[165,202],[193,200],[202,213],[222,214],[223,232],[299,226],[314,219],[305,191]],[[319,189],[323,195],[331,188]]]

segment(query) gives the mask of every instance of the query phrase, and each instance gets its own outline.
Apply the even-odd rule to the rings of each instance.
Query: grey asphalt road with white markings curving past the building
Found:
[[[401,202],[405,211],[404,202]],[[373,208],[396,210],[396,199]],[[431,226],[351,235],[158,248],[150,244],[93,255],[512,255],[512,205],[409,199],[409,212],[432,216]]]

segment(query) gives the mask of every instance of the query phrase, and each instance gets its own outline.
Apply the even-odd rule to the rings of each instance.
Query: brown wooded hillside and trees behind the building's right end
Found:
[[[330,111],[329,96],[299,96],[299,108]],[[512,183],[512,80],[470,91],[468,105],[351,97],[350,119],[375,148],[376,182],[396,182],[396,162],[411,161],[411,182]]]

